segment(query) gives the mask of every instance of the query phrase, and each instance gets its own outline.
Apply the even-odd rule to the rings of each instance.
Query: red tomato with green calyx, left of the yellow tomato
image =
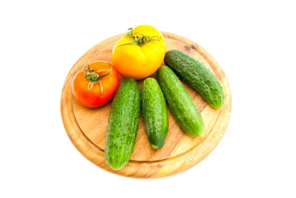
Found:
[[[100,107],[113,98],[118,82],[118,73],[113,65],[106,61],[94,61],[75,74],[72,91],[80,104]]]

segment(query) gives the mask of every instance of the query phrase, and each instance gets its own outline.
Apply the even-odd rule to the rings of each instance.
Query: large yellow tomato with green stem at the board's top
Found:
[[[166,52],[162,34],[154,27],[140,25],[114,45],[112,63],[124,78],[144,79],[161,66]]]

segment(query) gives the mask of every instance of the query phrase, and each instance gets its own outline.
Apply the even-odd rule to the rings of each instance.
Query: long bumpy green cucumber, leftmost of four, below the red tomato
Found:
[[[106,136],[105,157],[114,170],[125,166],[134,151],[140,106],[138,82],[131,78],[123,80],[113,98]]]

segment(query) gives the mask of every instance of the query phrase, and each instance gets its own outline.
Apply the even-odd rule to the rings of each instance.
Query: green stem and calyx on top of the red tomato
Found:
[[[104,71],[109,71],[109,72],[107,74],[99,76],[99,72],[104,72]],[[112,67],[110,70],[105,69],[105,70],[98,70],[95,72],[94,68],[89,68],[89,65],[87,65],[87,68],[86,68],[86,66],[84,66],[83,73],[84,73],[85,79],[89,81],[88,86],[87,86],[88,92],[90,92],[90,90],[92,89],[94,84],[99,83],[101,86],[101,98],[104,98],[102,95],[103,94],[103,86],[102,86],[100,79],[107,77],[111,73],[111,71],[112,71]]]

